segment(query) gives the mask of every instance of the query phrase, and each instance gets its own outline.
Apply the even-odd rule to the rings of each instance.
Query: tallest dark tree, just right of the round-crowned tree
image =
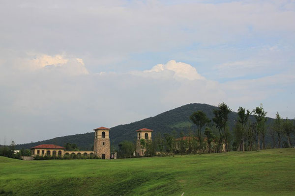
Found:
[[[220,103],[218,105],[218,110],[213,110],[214,118],[213,122],[216,124],[216,127],[219,130],[220,138],[219,138],[219,148],[222,144],[222,140],[225,141],[225,150],[226,152],[228,150],[228,134],[226,131],[227,122],[228,122],[228,115],[232,111],[231,108],[227,106],[224,102]]]

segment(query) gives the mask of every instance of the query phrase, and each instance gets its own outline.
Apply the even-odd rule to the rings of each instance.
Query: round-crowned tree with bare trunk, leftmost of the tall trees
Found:
[[[189,119],[195,124],[197,125],[197,137],[199,139],[199,152],[201,153],[201,144],[202,144],[202,128],[204,125],[206,125],[207,123],[210,122],[210,120],[207,118],[207,115],[199,110],[197,112],[194,112]]]

